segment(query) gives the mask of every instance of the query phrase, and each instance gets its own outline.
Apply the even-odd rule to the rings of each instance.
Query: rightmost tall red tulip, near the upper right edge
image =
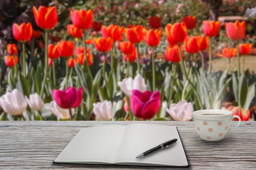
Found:
[[[232,40],[241,40],[245,37],[245,21],[239,23],[237,20],[235,23],[225,23],[227,36]]]

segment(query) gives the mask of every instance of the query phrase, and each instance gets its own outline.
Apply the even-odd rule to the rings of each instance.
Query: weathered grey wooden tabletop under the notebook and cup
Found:
[[[128,125],[129,121],[24,121],[0,122],[0,169],[58,169],[58,170],[126,170],[177,169],[170,167],[129,167],[79,164],[54,164],[53,160],[67,146],[82,127],[99,125]],[[241,122],[218,142],[199,138],[194,122],[140,121],[160,125],[174,125],[193,170],[256,170],[256,122]],[[235,123],[232,122],[231,126]],[[178,168],[179,170],[183,168]]]

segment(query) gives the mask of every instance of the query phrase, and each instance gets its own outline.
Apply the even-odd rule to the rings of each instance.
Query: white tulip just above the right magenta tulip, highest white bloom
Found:
[[[118,85],[128,97],[131,97],[134,89],[137,89],[142,93],[147,90],[144,78],[140,74],[138,74],[134,79],[131,77],[125,78],[122,82],[118,82]]]

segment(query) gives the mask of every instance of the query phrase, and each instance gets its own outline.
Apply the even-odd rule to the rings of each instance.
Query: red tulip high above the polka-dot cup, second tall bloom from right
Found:
[[[221,27],[221,23],[218,21],[203,21],[204,34],[208,37],[215,37]]]

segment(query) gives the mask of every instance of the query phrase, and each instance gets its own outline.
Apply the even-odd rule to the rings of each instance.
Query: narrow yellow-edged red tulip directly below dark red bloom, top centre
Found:
[[[145,42],[148,46],[155,47],[159,44],[162,32],[160,30],[151,29],[145,31]]]

